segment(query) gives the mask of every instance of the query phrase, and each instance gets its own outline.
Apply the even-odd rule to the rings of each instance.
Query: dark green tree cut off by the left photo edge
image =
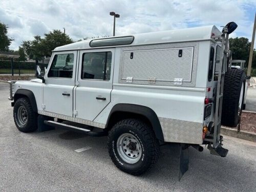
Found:
[[[8,35],[8,26],[0,22],[0,51],[8,51],[13,38],[9,38]]]

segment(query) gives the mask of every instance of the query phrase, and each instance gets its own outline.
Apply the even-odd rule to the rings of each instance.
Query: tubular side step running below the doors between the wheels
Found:
[[[87,135],[95,136],[95,137],[101,137],[101,136],[108,135],[108,132],[104,132],[104,131],[102,131],[102,132],[93,132],[91,130],[84,129],[84,128],[81,128],[81,127],[78,127],[78,126],[73,126],[73,125],[60,123],[60,122],[55,122],[55,121],[51,121],[51,120],[45,120],[44,123],[49,125],[49,126],[55,126],[55,127],[59,127],[59,128],[62,128],[62,129],[83,132],[83,133],[86,133]]]

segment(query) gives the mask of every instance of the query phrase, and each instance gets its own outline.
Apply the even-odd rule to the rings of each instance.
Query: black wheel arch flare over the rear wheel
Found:
[[[131,117],[150,123],[156,138],[164,141],[162,127],[156,113],[151,108],[143,105],[127,103],[114,105],[106,122],[106,128],[110,130],[117,121]]]

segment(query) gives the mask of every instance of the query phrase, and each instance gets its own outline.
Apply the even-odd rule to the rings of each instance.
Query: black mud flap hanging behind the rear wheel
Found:
[[[179,181],[181,180],[182,176],[188,170],[188,144],[180,143],[180,166],[179,166]]]

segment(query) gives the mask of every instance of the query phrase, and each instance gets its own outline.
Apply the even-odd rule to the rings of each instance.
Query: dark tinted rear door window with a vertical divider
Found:
[[[83,53],[81,79],[110,80],[111,52]]]

